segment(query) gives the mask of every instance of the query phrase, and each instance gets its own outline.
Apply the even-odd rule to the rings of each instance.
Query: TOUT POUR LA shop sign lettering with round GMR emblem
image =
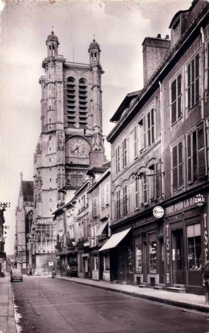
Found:
[[[198,195],[198,197],[197,197]],[[194,197],[191,197],[189,199],[185,199],[182,201],[177,201],[176,203],[172,204],[171,206],[166,207],[166,215],[172,215],[175,213],[179,213],[182,212],[188,208],[191,208],[193,206],[202,206],[203,205],[203,201],[205,203],[205,197],[199,197],[199,195],[201,196],[201,194],[197,194]]]

